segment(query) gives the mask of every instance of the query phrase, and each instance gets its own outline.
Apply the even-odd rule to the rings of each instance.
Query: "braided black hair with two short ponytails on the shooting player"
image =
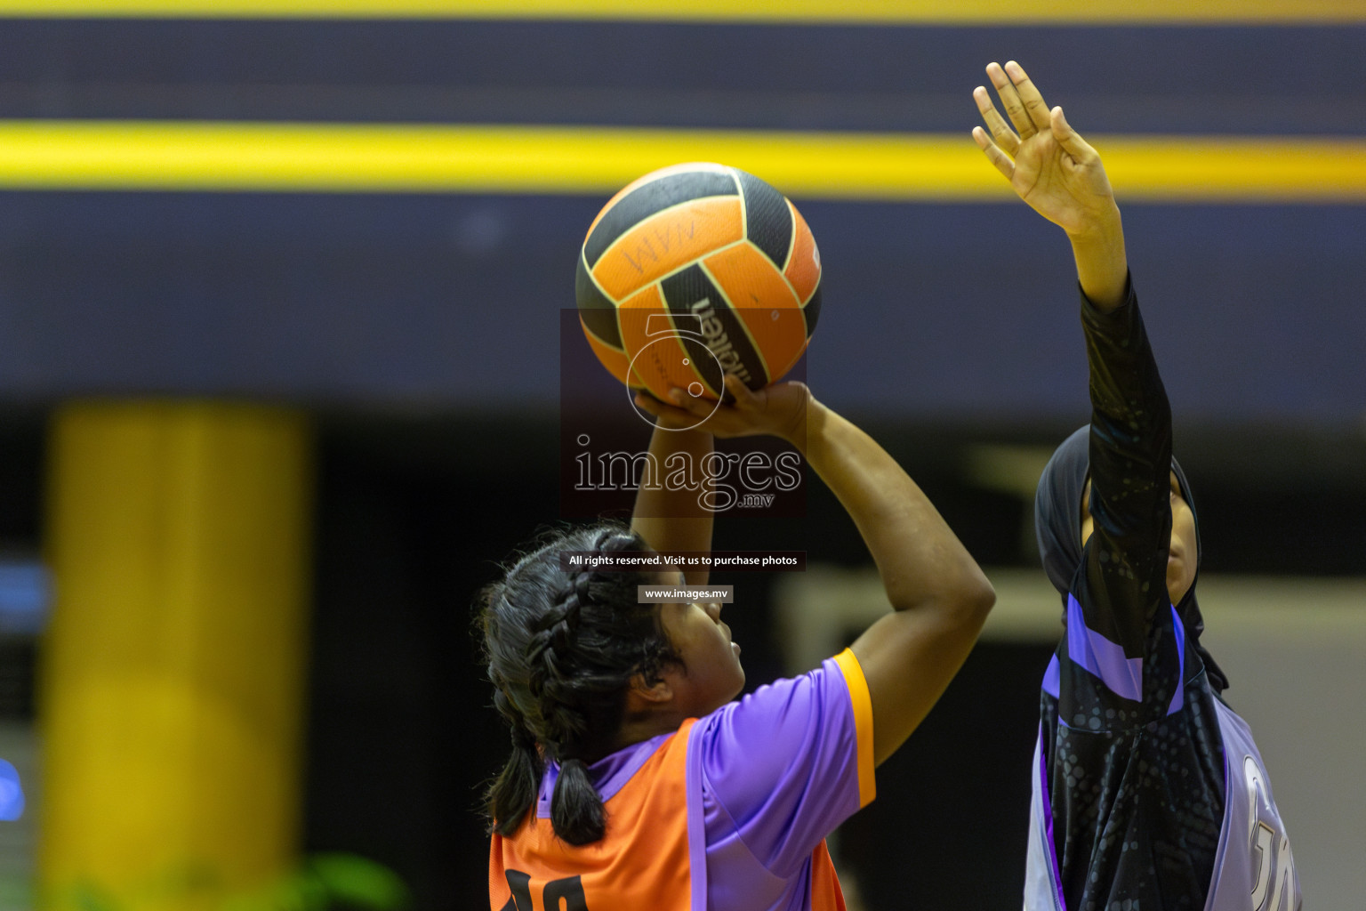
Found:
[[[561,550],[645,550],[619,523],[553,533],[481,593],[479,630],[493,705],[512,755],[485,794],[492,830],[510,836],[535,804],[545,759],[560,763],[550,824],[570,844],[602,837],[607,814],[587,765],[611,753],[631,677],[678,660],[658,611],[637,602],[638,572],[560,568]]]

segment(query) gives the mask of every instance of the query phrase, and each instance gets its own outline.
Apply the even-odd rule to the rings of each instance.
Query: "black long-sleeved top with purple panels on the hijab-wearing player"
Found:
[[[1041,695],[1060,884],[1068,908],[1201,911],[1224,763],[1214,697],[1167,591],[1171,407],[1132,285],[1109,313],[1083,298],[1082,326],[1094,529],[1056,695]]]

